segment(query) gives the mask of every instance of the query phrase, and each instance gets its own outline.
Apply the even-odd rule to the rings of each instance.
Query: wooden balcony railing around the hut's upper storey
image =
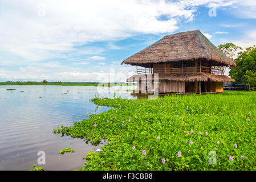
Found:
[[[224,69],[220,68],[210,68],[210,67],[185,67],[185,68],[137,68],[137,75],[140,74],[193,74],[193,73],[211,73],[214,75],[224,75]]]

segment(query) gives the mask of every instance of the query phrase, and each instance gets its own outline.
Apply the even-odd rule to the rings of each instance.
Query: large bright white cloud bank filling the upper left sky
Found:
[[[67,52],[90,42],[173,32],[178,21],[192,20],[196,9],[153,0],[3,0],[0,12],[0,51],[10,53],[9,59],[38,61],[68,57]],[[160,15],[169,19],[157,19]]]

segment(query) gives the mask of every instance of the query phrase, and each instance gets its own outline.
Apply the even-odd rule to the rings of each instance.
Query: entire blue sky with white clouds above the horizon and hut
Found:
[[[256,1],[0,0],[0,25],[0,81],[125,81],[121,61],[165,35],[255,45]]]

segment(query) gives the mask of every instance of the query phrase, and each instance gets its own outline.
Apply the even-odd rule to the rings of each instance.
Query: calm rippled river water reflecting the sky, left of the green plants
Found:
[[[7,90],[15,89],[15,90]],[[72,170],[83,166],[88,151],[99,146],[86,144],[83,139],[53,134],[57,126],[72,125],[88,114],[107,111],[91,98],[136,98],[127,89],[133,86],[0,86],[0,170],[27,170],[35,164],[45,170]],[[58,154],[71,147],[76,152]],[[38,151],[46,154],[46,164],[38,165]]]

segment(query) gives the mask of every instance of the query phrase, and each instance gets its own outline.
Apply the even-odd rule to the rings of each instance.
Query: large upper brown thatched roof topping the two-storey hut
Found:
[[[121,64],[149,67],[152,63],[186,60],[213,61],[220,65],[236,66],[235,62],[214,46],[200,30],[164,36]]]

